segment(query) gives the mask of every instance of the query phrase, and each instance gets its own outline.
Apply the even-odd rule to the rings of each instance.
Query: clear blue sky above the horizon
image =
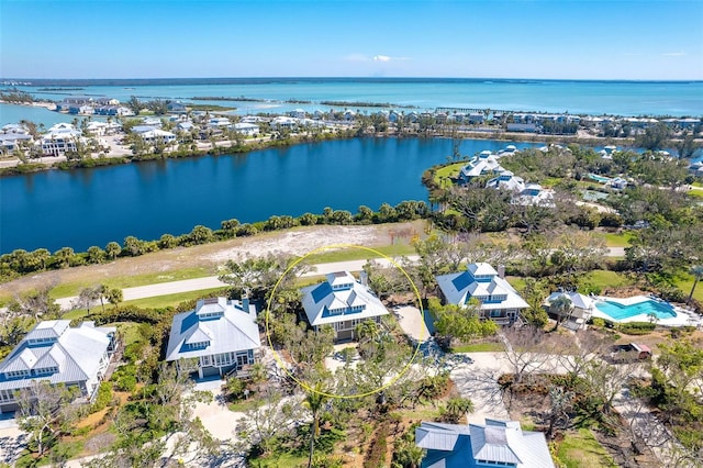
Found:
[[[0,0],[2,78],[703,79],[703,0]]]

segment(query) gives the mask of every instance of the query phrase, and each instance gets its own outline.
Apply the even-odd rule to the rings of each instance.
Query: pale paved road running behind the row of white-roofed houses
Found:
[[[625,256],[624,247],[609,247],[606,256],[609,257],[623,257]],[[406,257],[410,261],[417,261],[420,258],[416,255],[410,255]],[[333,261],[327,264],[317,264],[314,269],[304,272],[303,277],[322,276],[335,271],[360,271],[367,260],[347,260],[347,261]],[[382,267],[391,266],[391,261],[386,258],[375,259]],[[159,282],[155,285],[137,286],[134,288],[124,288],[122,296],[124,301],[134,301],[137,299],[155,298],[158,296],[177,294],[181,292],[201,291],[204,289],[223,288],[227,283],[222,282],[216,276],[183,279],[180,281]],[[56,303],[60,305],[62,310],[70,310],[72,304],[78,299],[77,296],[68,298],[60,298],[56,300]]]

